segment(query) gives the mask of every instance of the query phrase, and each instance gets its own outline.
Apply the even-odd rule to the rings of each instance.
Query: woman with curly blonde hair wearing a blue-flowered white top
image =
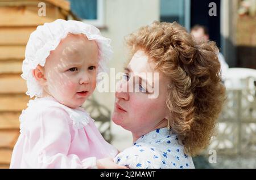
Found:
[[[131,60],[115,93],[112,119],[132,132],[134,145],[115,162],[195,168],[191,156],[209,144],[224,101],[216,45],[196,44],[179,24],[159,22],[132,33],[127,45]],[[141,76],[148,72],[159,78]],[[130,91],[136,84],[141,92]],[[158,96],[150,98],[155,91]]]

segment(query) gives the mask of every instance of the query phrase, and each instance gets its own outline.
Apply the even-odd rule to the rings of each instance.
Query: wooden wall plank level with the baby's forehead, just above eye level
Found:
[[[0,61],[23,60],[25,48],[26,46],[0,46]]]

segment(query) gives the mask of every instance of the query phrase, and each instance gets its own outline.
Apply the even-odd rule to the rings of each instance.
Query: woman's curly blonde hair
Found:
[[[176,22],[142,27],[126,37],[126,44],[130,55],[143,50],[170,80],[166,104],[171,127],[185,153],[197,155],[209,144],[225,100],[216,44],[196,44]]]

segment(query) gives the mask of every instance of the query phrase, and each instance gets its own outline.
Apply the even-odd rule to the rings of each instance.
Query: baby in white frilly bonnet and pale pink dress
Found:
[[[20,115],[10,168],[123,168],[80,106],[112,54],[110,40],[92,25],[58,19],[32,32],[22,66],[34,100]]]

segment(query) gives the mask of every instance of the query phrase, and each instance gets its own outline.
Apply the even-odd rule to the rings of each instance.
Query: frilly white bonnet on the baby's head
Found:
[[[51,50],[55,50],[61,39],[65,38],[68,33],[82,33],[89,40],[95,40],[98,45],[99,66],[98,72],[106,71],[106,62],[112,55],[111,40],[101,36],[100,30],[90,24],[85,24],[76,20],[57,19],[52,23],[44,23],[39,25],[34,32],[31,33],[27,42],[25,59],[22,64],[22,78],[27,80],[26,95],[31,98],[40,97],[43,88],[32,75],[38,65],[44,66],[46,58]]]

